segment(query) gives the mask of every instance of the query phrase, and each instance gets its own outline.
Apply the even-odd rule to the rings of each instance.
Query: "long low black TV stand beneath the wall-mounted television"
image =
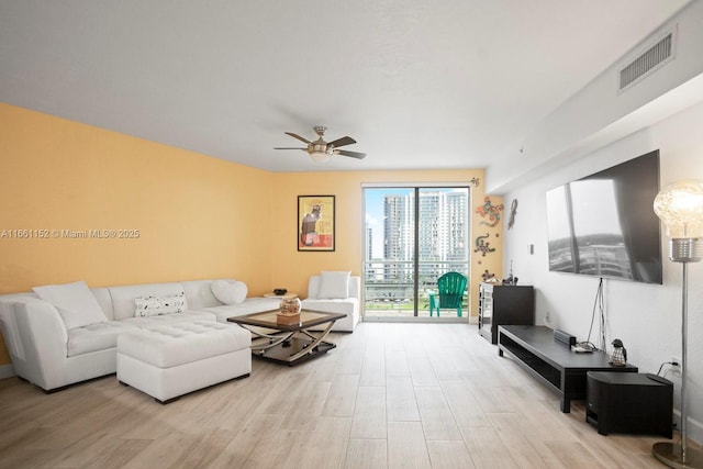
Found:
[[[498,355],[506,353],[517,365],[561,398],[561,412],[571,411],[572,400],[585,399],[588,371],[637,372],[637,367],[614,367],[602,351],[578,354],[554,339],[545,326],[499,326]]]

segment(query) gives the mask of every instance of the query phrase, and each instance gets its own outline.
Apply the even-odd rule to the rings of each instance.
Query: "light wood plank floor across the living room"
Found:
[[[360,324],[297,368],[160,405],[114,376],[0,381],[2,468],[659,468],[661,437],[599,435],[464,324]]]

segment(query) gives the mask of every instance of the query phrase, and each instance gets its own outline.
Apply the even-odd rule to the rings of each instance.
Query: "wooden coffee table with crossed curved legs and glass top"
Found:
[[[319,357],[336,347],[324,338],[330,334],[335,321],[346,314],[325,313],[302,310],[300,322],[282,324],[277,321],[278,310],[264,313],[228,317],[227,321],[239,324],[252,333],[252,355],[265,360],[290,367]],[[310,328],[325,325],[321,332]],[[261,328],[266,331],[261,331]],[[270,332],[269,332],[270,331]]]

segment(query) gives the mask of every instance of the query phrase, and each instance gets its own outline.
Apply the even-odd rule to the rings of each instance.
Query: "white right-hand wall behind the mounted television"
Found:
[[[703,179],[703,104],[595,150],[569,166],[529,181],[505,194],[505,205],[517,199],[512,230],[504,228],[504,271],[513,261],[521,284],[536,288],[536,323],[565,330],[580,340],[589,333],[598,278],[550,272],[547,257],[545,191],[588,176],[652,149],[660,150],[660,187],[683,178]],[[534,244],[534,255],[529,245]],[[681,356],[681,264],[667,258],[668,239],[662,226],[663,284],[605,280],[606,343],[621,338],[628,360],[640,372]],[[703,263],[689,265],[689,437],[703,442]],[[595,327],[595,326],[594,326]],[[591,342],[598,345],[594,330]],[[609,348],[610,350],[610,348]],[[668,367],[665,367],[667,370]],[[674,382],[679,407],[680,378]]]

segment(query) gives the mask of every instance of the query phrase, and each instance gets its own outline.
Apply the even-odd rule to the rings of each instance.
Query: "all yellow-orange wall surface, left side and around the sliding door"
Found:
[[[231,277],[253,295],[286,287],[304,297],[321,270],[360,273],[362,183],[478,178],[471,210],[484,198],[480,169],[272,174],[3,103],[0,174],[0,293]],[[304,194],[335,196],[335,252],[298,252]],[[480,273],[502,276],[501,230],[491,228],[494,255],[472,253],[472,315]]]

